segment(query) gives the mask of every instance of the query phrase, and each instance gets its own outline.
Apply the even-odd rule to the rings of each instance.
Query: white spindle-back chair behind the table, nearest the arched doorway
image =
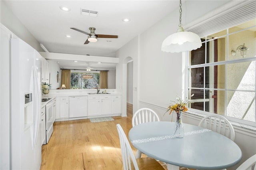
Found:
[[[141,123],[154,121],[160,121],[156,112],[149,108],[142,108],[136,111],[132,116],[132,127]],[[137,150],[135,158],[140,158],[141,154],[140,150]]]

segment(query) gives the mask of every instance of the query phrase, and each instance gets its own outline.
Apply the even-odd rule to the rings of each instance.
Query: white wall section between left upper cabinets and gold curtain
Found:
[[[48,60],[50,67],[50,84],[51,89],[61,87],[61,70],[60,65],[56,61]],[[57,71],[59,72],[59,82],[57,82]]]

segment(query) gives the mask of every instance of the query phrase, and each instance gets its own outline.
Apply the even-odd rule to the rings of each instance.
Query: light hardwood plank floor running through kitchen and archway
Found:
[[[122,154],[116,124],[126,135],[132,128],[132,105],[127,117],[90,123],[89,119],[54,123],[48,144],[42,146],[41,170],[122,170]],[[134,154],[136,149],[132,147]]]

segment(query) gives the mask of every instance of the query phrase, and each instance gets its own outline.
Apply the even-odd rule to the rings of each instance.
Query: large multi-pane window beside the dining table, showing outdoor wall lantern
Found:
[[[201,40],[187,64],[189,107],[255,123],[256,19]]]

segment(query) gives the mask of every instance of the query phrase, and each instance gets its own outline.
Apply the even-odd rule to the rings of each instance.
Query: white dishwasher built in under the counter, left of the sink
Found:
[[[69,97],[69,118],[87,117],[87,96]]]

